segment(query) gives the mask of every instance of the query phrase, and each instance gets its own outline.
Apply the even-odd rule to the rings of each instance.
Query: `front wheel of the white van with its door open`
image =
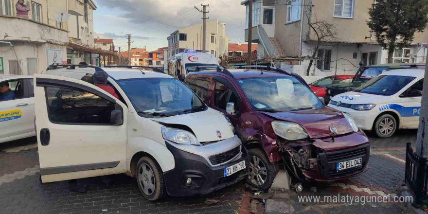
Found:
[[[142,157],[137,163],[138,187],[147,200],[159,200],[165,194],[165,181],[156,160]]]

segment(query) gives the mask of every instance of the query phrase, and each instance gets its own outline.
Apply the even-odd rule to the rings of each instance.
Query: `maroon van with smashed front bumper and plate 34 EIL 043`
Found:
[[[254,187],[268,189],[278,164],[294,183],[350,178],[367,169],[364,132],[294,73],[269,66],[196,69],[185,84],[231,120],[249,150],[247,182]]]

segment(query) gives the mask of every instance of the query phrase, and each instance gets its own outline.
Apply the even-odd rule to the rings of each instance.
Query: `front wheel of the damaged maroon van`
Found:
[[[273,179],[278,173],[278,167],[275,164],[270,163],[269,159],[267,159],[266,153],[259,148],[248,150],[248,155],[249,155],[248,176],[245,178],[245,181],[249,185],[255,188],[259,188],[262,190],[269,189],[270,186],[272,186]],[[255,172],[252,167],[252,164],[254,163],[254,157],[259,160],[259,166],[262,163],[266,167],[267,175],[260,175],[261,180],[258,180],[257,176],[254,175]],[[264,182],[259,182],[262,180],[264,180]]]

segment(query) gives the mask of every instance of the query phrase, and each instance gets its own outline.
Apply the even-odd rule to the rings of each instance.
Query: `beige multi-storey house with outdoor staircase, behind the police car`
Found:
[[[321,42],[318,62],[310,68],[314,75],[354,74],[358,63],[376,65],[387,62],[388,52],[377,43],[367,25],[373,0],[257,0],[253,2],[252,42],[258,44],[259,57],[310,56],[317,44],[308,23],[326,21],[338,35],[335,42]],[[248,40],[248,7],[246,5],[245,38]],[[312,5],[312,6],[307,6]],[[308,20],[309,19],[309,20]],[[428,32],[416,33],[409,47],[397,49],[393,62],[425,62]],[[295,64],[295,65],[285,65]],[[305,75],[309,60],[281,63],[281,67]],[[277,65],[279,66],[279,65]]]

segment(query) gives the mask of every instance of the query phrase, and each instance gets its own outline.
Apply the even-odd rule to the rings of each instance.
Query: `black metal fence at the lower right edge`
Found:
[[[411,143],[406,145],[405,181],[415,194],[415,203],[428,205],[428,166],[427,158],[413,152]]]

